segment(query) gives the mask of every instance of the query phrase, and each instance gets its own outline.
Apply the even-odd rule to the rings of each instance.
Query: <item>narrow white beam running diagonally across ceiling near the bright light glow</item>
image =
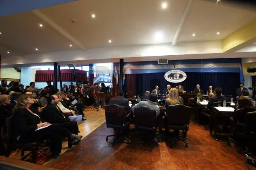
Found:
[[[188,3],[187,3],[187,5],[186,5],[186,8],[185,8],[185,10],[184,10],[184,12],[183,12],[183,15],[182,15],[182,17],[181,17],[181,20],[180,20],[179,26],[178,26],[178,28],[177,28],[177,31],[176,31],[176,33],[175,33],[175,35],[174,35],[174,37],[173,37],[172,45],[176,45],[176,44],[177,44],[177,39],[178,39],[178,37],[179,37],[179,35],[180,35],[180,31],[182,30],[182,27],[183,27],[183,25],[184,25],[184,22],[185,22],[185,20],[186,20],[186,17],[187,17],[187,15],[189,14],[189,11],[191,10],[193,1],[194,1],[194,0],[189,0]]]

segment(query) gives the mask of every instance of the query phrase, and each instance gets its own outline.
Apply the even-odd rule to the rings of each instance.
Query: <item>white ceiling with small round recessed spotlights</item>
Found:
[[[3,57],[14,53],[26,57],[79,50],[81,46],[90,49],[169,43],[188,0],[165,2],[166,9],[161,8],[163,0],[78,0],[40,9],[53,24],[32,11],[0,17],[0,49],[4,49],[0,53]],[[256,11],[194,0],[177,41],[222,40],[254,19]],[[155,40],[156,31],[163,31],[163,40]],[[6,49],[11,53],[7,54]]]

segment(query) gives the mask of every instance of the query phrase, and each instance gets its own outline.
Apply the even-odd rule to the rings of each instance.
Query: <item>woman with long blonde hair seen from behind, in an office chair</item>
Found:
[[[168,109],[169,105],[184,104],[183,99],[179,96],[177,88],[171,88],[169,91],[169,98],[166,99],[165,106]]]

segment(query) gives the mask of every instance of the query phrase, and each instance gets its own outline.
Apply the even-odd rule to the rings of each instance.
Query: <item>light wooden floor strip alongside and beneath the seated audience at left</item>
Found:
[[[79,122],[79,130],[80,133],[79,135],[82,135],[84,139],[87,135],[89,135],[91,132],[93,132],[93,130],[95,130],[97,127],[99,127],[100,125],[102,125],[105,122],[105,111],[104,110],[99,110],[96,111],[96,109],[93,108],[86,108],[84,110],[84,118],[87,119],[86,121],[81,121]],[[68,141],[64,141],[62,143],[62,150],[60,154],[65,153],[69,147],[68,147]],[[27,153],[27,152],[25,152]],[[12,154],[10,155],[10,158],[14,158],[14,159],[21,159],[20,158],[20,150],[16,150],[14,152],[12,152]],[[30,161],[30,158],[26,159],[26,161]],[[55,159],[48,159],[46,163],[44,163],[44,166],[47,166],[48,164],[50,164],[53,160]]]

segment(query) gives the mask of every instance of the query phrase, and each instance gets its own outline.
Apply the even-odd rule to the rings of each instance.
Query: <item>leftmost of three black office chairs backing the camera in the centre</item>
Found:
[[[114,145],[116,142],[116,139],[118,139],[121,135],[125,135],[129,131],[130,127],[130,115],[126,115],[125,113],[125,107],[111,104],[105,106],[105,117],[106,117],[106,125],[108,128],[114,128],[116,130],[115,134],[108,135],[106,137],[106,141],[108,141],[108,137],[114,136],[112,144]],[[127,138],[125,136],[125,139],[127,140],[127,144],[129,143],[129,137]]]

